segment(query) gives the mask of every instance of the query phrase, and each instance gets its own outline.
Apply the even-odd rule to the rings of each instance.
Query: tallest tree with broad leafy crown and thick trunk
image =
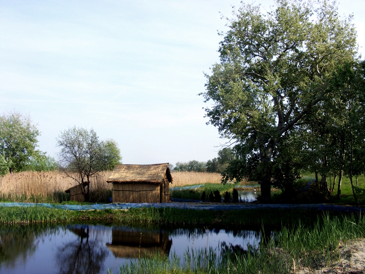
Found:
[[[243,5],[228,20],[220,63],[207,75],[210,123],[225,138],[260,155],[261,193],[270,201],[271,161],[281,139],[331,96],[338,63],[356,58],[356,31],[334,4],[277,0],[277,8]],[[296,128],[296,130],[292,130]]]

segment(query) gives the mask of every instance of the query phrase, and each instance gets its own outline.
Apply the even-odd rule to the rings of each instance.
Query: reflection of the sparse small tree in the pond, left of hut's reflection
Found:
[[[78,239],[70,241],[59,249],[56,256],[59,273],[99,273],[108,254],[108,250],[100,239],[104,236],[103,231],[89,229],[88,226],[69,230],[76,234]]]

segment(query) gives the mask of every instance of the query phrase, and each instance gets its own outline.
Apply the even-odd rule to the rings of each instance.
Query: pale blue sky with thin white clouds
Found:
[[[0,113],[30,115],[39,149],[56,159],[73,126],[118,142],[124,164],[212,159],[225,140],[198,94],[232,6],[240,1],[0,0]],[[365,56],[365,1],[338,10],[353,14]]]

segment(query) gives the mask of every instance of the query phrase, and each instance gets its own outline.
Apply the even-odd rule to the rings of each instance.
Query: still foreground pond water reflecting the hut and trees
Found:
[[[139,255],[183,258],[191,248],[247,250],[260,241],[258,230],[1,225],[0,273],[106,273]]]

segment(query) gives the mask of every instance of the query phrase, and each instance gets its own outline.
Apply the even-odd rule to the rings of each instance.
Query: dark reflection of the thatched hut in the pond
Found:
[[[142,234],[141,234],[142,232]],[[153,255],[169,255],[172,240],[162,231],[112,230],[112,242],[106,244],[115,257],[150,258]]]

